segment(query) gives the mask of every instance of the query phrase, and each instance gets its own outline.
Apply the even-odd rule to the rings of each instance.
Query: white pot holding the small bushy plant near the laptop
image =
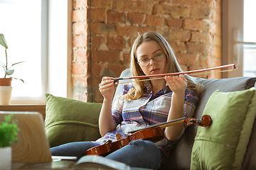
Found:
[[[0,147],[0,169],[11,169],[11,147]]]

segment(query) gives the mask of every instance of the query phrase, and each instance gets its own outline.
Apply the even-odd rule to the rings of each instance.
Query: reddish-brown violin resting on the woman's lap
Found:
[[[86,154],[97,154],[103,157],[107,156],[111,152],[116,151],[117,149],[121,149],[124,146],[129,145],[129,142],[132,140],[149,140],[151,142],[158,142],[164,139],[164,128],[176,125],[178,123],[184,123],[186,127],[188,125],[198,125],[202,127],[207,127],[212,122],[210,115],[203,115],[201,120],[196,118],[179,118],[176,120],[171,120],[166,123],[158,123],[155,125],[149,125],[146,128],[142,128],[139,130],[132,131],[131,135],[127,135],[127,137],[122,138],[122,136],[118,133],[116,135],[117,141],[112,142],[108,140],[105,144],[92,147],[86,151]]]

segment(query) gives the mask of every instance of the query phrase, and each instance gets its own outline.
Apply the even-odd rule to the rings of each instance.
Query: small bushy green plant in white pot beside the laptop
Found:
[[[0,169],[11,169],[11,144],[18,140],[18,120],[11,120],[12,116],[0,120]]]

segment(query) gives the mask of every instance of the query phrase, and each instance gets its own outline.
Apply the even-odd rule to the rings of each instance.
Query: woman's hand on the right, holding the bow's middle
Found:
[[[185,77],[180,74],[179,77],[166,76],[164,79],[174,94],[184,94],[186,87],[188,86],[188,81]]]

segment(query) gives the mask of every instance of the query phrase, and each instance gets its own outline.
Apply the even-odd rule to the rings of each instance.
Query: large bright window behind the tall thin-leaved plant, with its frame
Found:
[[[9,66],[26,61],[13,67],[25,83],[12,81],[11,104],[45,103],[46,93],[70,98],[72,0],[0,0],[0,15]],[[4,54],[1,46],[1,62]]]

